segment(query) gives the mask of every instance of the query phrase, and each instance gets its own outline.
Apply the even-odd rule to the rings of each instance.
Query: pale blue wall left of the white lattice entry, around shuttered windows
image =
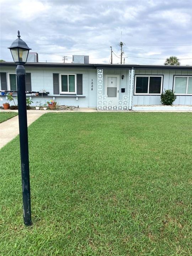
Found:
[[[32,105],[31,106],[36,106],[36,105],[43,105],[46,101],[53,99],[55,97],[55,100],[59,103],[59,105],[69,105],[69,106],[79,106],[79,107],[89,107],[88,105],[88,84],[90,84],[89,81],[89,72],[93,73],[95,71],[95,77],[94,73],[92,74],[91,77],[92,79],[95,79],[95,91],[96,92],[96,70],[89,71],[87,68],[52,68],[52,67],[30,67],[26,66],[26,73],[31,73],[31,90],[32,91],[39,91],[42,89],[45,89],[46,91],[49,92],[48,96],[31,96],[32,97]],[[15,67],[3,67],[1,68],[1,72],[6,72],[7,77],[8,73],[12,72],[15,73]],[[59,73],[59,74],[82,74],[82,89],[83,89],[83,94],[82,96],[84,97],[78,97],[78,100],[76,100],[76,96],[71,97],[71,96],[62,96],[62,95],[54,95],[53,94],[53,73]],[[91,78],[90,77],[90,78]],[[7,79],[8,83],[8,79]],[[8,85],[8,84],[7,84]],[[91,86],[91,85],[90,85]],[[1,87],[0,87],[1,89]],[[91,94],[91,93],[90,93]],[[92,95],[92,94],[91,94]],[[90,95],[90,96],[91,96]],[[92,95],[94,97],[94,95]],[[30,97],[30,95],[27,95],[27,97]],[[3,102],[6,102],[6,97],[2,96]],[[11,102],[12,104],[12,102]],[[94,100],[90,100],[90,106],[94,107],[96,104],[96,96],[95,96],[95,103]],[[95,105],[96,107],[96,105]]]

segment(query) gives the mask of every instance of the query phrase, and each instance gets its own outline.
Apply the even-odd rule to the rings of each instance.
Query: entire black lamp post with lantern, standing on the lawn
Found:
[[[27,108],[25,93],[25,68],[29,48],[27,44],[18,38],[11,44],[11,50],[14,62],[17,64],[17,97],[18,97],[18,119],[19,119],[19,136],[20,136],[20,155],[21,155],[21,177],[22,177],[22,194],[23,194],[23,220],[24,224],[29,226],[31,221],[31,195],[30,195],[30,172],[29,172],[29,151],[28,151],[28,133],[27,133]]]

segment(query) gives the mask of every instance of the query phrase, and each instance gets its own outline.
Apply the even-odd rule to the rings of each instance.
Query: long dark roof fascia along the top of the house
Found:
[[[0,66],[15,66],[15,62],[0,62]],[[76,63],[25,63],[25,66],[35,67],[67,67],[67,68],[120,68],[120,69],[192,69],[192,66],[169,66],[169,65],[137,65],[137,64],[76,64]]]

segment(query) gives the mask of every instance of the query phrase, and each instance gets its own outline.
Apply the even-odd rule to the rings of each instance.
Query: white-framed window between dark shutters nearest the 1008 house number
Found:
[[[76,94],[76,75],[74,74],[60,75],[60,93]]]

